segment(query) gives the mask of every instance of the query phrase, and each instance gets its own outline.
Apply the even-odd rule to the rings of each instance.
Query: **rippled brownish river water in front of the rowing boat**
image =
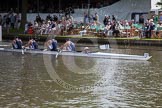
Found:
[[[161,108],[160,47],[112,48],[149,61],[0,52],[0,107]]]

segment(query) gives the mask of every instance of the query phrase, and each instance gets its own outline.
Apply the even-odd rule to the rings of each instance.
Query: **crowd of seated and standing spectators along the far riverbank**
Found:
[[[10,29],[20,28],[21,18],[19,13],[9,13],[3,17],[0,15],[0,25],[9,33]],[[118,20],[114,15],[105,15],[100,22],[99,15],[83,15],[83,21],[75,21],[70,13],[50,14],[42,19],[38,14],[32,22],[26,22],[25,34],[53,34],[53,35],[76,35],[76,34],[100,34],[102,36],[140,36],[140,38],[151,38],[153,35],[161,37],[162,13],[153,15],[150,19],[140,16],[138,22],[135,20]]]

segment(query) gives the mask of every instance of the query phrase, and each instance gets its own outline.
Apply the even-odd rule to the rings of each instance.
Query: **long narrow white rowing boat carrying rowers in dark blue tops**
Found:
[[[18,49],[0,48],[0,51],[22,53],[22,50],[18,50]],[[57,51],[24,50],[24,52],[31,53],[31,54],[58,55]],[[82,52],[67,52],[67,51],[62,51],[61,53],[59,53],[59,55],[74,56],[74,57],[106,58],[106,59],[144,60],[144,61],[147,61],[152,57],[149,56],[148,53],[144,53],[144,55],[128,55],[128,54],[115,54],[115,53],[104,53],[104,52],[82,53]]]

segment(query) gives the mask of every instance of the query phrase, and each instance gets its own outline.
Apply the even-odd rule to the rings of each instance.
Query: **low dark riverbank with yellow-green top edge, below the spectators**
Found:
[[[143,45],[143,46],[162,46],[162,39],[140,39],[139,37],[132,38],[114,38],[114,37],[96,37],[96,36],[54,36],[54,35],[3,35],[3,40],[12,40],[15,37],[19,37],[22,40],[29,40],[30,38],[36,38],[40,42],[45,42],[48,38],[55,38],[58,42],[65,42],[66,39],[70,38],[75,43],[88,43],[88,44],[116,44],[116,45]]]

